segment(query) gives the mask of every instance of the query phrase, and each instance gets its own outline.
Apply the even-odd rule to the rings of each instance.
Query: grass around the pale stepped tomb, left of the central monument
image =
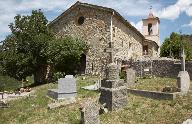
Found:
[[[50,83],[35,87],[36,97],[11,101],[9,102],[10,108],[0,109],[0,124],[78,123],[80,121],[80,103],[86,101],[89,97],[94,99],[98,95],[97,92],[86,91],[80,89],[80,87],[93,84],[96,79],[96,77],[93,77],[81,80],[81,77],[79,77],[77,81],[77,103],[54,110],[47,109],[47,104],[53,101],[46,97],[46,94],[48,89],[56,88],[57,84]]]

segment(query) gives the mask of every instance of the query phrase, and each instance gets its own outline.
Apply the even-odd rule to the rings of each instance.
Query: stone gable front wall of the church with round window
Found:
[[[78,18],[81,16],[85,17],[85,21],[79,25]],[[57,37],[80,37],[89,45],[85,53],[87,74],[100,74],[109,61],[104,49],[110,41],[110,16],[111,13],[106,11],[79,6],[51,25]]]

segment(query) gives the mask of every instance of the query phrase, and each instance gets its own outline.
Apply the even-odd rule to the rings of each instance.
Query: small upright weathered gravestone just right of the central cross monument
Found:
[[[135,84],[136,79],[136,71],[132,68],[127,69],[125,75],[125,83],[127,86],[133,86]]]

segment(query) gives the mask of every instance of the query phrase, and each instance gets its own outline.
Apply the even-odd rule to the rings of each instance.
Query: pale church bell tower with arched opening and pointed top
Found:
[[[150,7],[149,15],[143,21],[143,35],[145,39],[154,41],[160,46],[160,20],[158,17],[155,17],[152,12],[152,6]],[[158,50],[159,52],[159,50]]]

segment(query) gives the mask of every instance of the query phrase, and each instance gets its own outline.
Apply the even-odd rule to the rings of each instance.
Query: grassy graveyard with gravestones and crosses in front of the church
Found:
[[[0,112],[3,114],[0,123],[107,124],[190,121],[192,82],[185,71],[184,57],[180,64],[182,71],[175,78],[155,75],[144,78],[137,76],[135,70],[123,66],[125,77],[120,79],[120,69],[113,59],[113,45],[109,44],[107,49],[110,49],[110,63],[104,78],[66,75],[59,78],[57,83],[34,87],[34,92],[27,97],[1,103]]]

